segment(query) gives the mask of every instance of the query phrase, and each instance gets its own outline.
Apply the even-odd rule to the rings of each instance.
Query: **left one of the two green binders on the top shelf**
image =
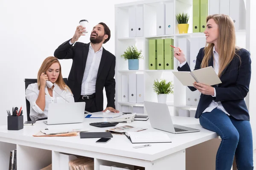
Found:
[[[193,32],[200,32],[200,0],[193,0]]]

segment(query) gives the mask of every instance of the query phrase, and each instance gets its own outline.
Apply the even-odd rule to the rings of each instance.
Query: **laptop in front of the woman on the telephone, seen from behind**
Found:
[[[85,102],[50,103],[47,125],[84,122]]]

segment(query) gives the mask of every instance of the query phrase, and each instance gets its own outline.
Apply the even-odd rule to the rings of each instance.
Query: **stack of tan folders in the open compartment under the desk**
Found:
[[[68,164],[70,170],[94,170],[94,161],[88,157],[79,157],[69,161]]]

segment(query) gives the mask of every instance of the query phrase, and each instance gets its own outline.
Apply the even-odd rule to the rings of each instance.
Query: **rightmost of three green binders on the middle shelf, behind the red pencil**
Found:
[[[172,38],[164,39],[164,69],[173,70],[174,45]]]

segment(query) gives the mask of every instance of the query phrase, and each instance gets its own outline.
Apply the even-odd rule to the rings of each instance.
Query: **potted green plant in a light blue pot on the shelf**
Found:
[[[138,51],[136,46],[129,46],[121,57],[125,60],[128,59],[128,69],[129,70],[139,70],[139,59],[143,59],[141,55],[142,51]]]

